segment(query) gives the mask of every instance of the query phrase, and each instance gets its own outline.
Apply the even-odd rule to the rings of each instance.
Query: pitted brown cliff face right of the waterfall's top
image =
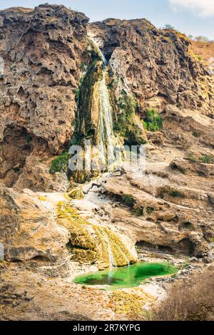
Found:
[[[188,51],[190,41],[181,33],[156,29],[146,19],[107,19],[89,24],[88,32],[110,59],[115,89],[118,78],[125,81],[142,108],[156,98],[182,108],[212,109],[208,68]]]

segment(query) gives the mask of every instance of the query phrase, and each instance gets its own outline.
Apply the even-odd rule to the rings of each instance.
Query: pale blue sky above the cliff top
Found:
[[[187,35],[214,39],[214,0],[0,0],[0,9],[45,2],[82,11],[91,21],[146,18],[158,28],[170,24]]]

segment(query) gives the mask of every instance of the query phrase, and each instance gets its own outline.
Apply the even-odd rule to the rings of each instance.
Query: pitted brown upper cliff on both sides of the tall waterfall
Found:
[[[170,103],[213,117],[212,78],[188,51],[188,39],[158,30],[145,19],[88,24],[84,14],[41,5],[1,11],[0,32],[5,65],[0,80],[0,178],[7,186],[68,187],[65,175],[49,175],[51,159],[68,148],[79,120],[86,121],[90,132],[98,119],[97,108],[87,111],[86,101],[76,113],[81,81],[96,56],[87,34],[109,61],[115,128],[127,142],[139,142],[135,133],[146,140],[141,123],[146,108],[164,111]],[[83,86],[81,96],[83,91],[90,95],[90,89]]]

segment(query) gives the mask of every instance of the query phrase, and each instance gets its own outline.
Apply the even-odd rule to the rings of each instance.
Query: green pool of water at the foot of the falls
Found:
[[[168,263],[137,263],[129,267],[117,267],[104,271],[84,274],[74,282],[83,285],[96,285],[102,289],[122,289],[137,287],[146,278],[175,274],[178,268]]]

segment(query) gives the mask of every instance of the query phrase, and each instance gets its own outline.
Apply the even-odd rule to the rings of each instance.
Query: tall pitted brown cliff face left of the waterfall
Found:
[[[26,158],[39,165],[71,139],[87,22],[63,6],[0,12],[0,175],[9,186]]]

